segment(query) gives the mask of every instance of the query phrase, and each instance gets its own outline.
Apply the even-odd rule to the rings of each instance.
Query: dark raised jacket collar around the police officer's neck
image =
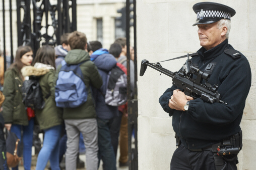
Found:
[[[204,47],[198,50],[199,57],[202,61],[207,61],[212,58],[219,56],[224,52],[225,48],[228,46],[228,39],[224,40],[219,45],[215,46],[210,50],[206,50]]]

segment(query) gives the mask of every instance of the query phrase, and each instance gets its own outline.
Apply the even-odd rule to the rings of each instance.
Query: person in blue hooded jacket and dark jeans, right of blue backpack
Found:
[[[107,89],[108,73],[116,66],[116,60],[107,49],[102,48],[100,42],[91,41],[90,45],[93,51],[90,56],[91,61],[97,66],[103,81],[100,90],[92,88],[98,123],[99,162],[102,159],[104,170],[116,170],[115,154],[110,136],[110,119],[118,114],[118,107],[107,105],[104,97]]]

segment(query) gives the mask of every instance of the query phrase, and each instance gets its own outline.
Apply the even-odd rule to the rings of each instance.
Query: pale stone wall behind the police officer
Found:
[[[144,0],[137,1],[138,70],[141,60],[159,62],[196,52],[201,48],[192,7],[202,1],[186,0]],[[254,0],[213,0],[236,11],[231,18],[232,28],[229,44],[243,53],[251,66],[252,84],[246,100],[241,122],[243,149],[239,153],[238,169],[255,169],[256,151],[256,23]],[[180,69],[186,59],[161,63],[171,71]],[[139,72],[138,72],[139,73]],[[170,160],[175,150],[172,118],[158,103],[159,97],[172,85],[171,78],[148,68],[145,75],[138,75],[138,149],[139,169],[170,169]],[[246,76],[246,75],[244,75]],[[241,92],[242,93],[242,92]]]

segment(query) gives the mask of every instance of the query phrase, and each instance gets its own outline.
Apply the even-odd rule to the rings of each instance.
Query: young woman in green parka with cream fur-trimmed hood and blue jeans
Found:
[[[59,138],[61,131],[61,110],[56,107],[54,99],[55,54],[51,46],[45,45],[36,52],[33,66],[22,69],[23,76],[36,76],[45,99],[44,108],[35,110],[40,129],[44,131],[43,147],[36,163],[36,170],[43,170],[50,160],[52,170],[59,168]]]

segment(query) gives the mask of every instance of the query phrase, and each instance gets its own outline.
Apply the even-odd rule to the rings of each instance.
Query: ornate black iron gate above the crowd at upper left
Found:
[[[12,4],[14,4],[12,0],[3,0],[3,56],[5,70],[7,69],[7,44],[10,44],[10,63],[14,61],[12,11],[15,7]],[[62,34],[77,30],[76,6],[76,0],[16,0],[18,46],[29,45],[35,54],[42,45],[59,45]],[[6,9],[9,10],[10,18],[6,16]],[[6,23],[6,19],[10,23]],[[10,25],[10,28],[6,28],[7,24]],[[8,39],[10,42],[7,42],[6,39],[6,33],[8,32],[10,32],[10,39]]]

